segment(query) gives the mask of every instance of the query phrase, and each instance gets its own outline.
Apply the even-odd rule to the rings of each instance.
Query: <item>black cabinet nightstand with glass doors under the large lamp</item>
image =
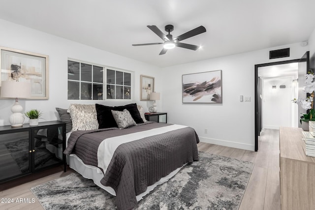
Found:
[[[65,122],[0,126],[0,182],[64,165]]]

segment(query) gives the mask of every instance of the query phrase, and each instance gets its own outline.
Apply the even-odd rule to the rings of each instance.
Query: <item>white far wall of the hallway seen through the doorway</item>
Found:
[[[292,126],[293,77],[263,79],[263,128],[279,129],[279,126]],[[280,86],[285,85],[284,89]],[[276,89],[272,89],[276,86]],[[294,107],[293,107],[294,108]]]

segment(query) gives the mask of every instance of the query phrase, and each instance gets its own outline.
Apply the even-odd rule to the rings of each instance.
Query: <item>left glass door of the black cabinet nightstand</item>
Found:
[[[0,181],[31,173],[29,131],[0,134]]]

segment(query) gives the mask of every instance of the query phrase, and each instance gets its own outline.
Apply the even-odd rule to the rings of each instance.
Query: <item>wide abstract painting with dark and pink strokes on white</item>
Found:
[[[222,70],[184,74],[183,103],[222,103]]]

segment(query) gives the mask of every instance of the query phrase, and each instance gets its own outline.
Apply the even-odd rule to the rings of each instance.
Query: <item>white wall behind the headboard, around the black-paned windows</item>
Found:
[[[147,111],[152,102],[139,101],[140,75],[155,77],[155,90],[162,90],[162,77],[160,68],[137,60],[108,53],[93,47],[73,42],[61,37],[47,34],[38,30],[16,25],[0,19],[0,46],[49,56],[49,99],[48,100],[22,100],[20,104],[25,110],[37,108],[41,110],[45,120],[57,120],[55,107],[68,108],[70,103],[101,103],[106,105],[123,105],[137,103]],[[105,41],[105,40],[104,40]],[[67,100],[67,59],[76,59],[99,65],[112,66],[134,71],[133,101],[69,101]],[[10,124],[10,108],[13,99],[0,99],[0,125]],[[157,101],[161,107],[162,99]],[[23,110],[23,111],[25,111]],[[40,119],[40,121],[44,121]],[[28,122],[26,118],[25,122]]]

